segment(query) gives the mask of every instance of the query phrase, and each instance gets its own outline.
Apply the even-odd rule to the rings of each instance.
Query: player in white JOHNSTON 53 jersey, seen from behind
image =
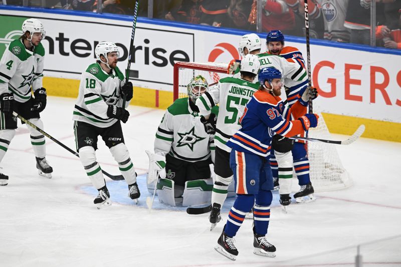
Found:
[[[258,91],[259,84],[253,83],[258,71],[258,57],[248,54],[242,60],[241,78],[223,78],[216,87],[196,100],[205,127],[211,133],[216,131],[216,179],[212,191],[212,211],[209,217],[212,223],[211,229],[221,219],[220,209],[226,200],[228,187],[233,181],[233,171],[229,164],[231,148],[226,146],[226,142],[241,128],[239,119],[244,113],[245,105]],[[211,109],[218,103],[220,103],[219,116],[214,125],[215,116],[211,114]]]

